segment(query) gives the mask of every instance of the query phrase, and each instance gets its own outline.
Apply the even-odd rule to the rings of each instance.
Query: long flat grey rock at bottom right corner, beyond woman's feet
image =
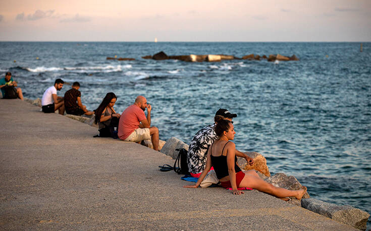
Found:
[[[312,212],[327,216],[340,223],[365,230],[369,214],[349,205],[336,205],[314,198],[302,199],[301,207]]]

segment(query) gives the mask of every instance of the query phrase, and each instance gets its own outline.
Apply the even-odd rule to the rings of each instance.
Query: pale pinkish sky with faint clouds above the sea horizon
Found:
[[[0,41],[370,42],[371,0],[0,0]]]

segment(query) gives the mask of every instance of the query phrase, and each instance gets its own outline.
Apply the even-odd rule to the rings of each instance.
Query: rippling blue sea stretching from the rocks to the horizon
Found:
[[[142,56],[295,54],[298,61],[184,62]],[[135,58],[133,61],[107,57]],[[371,213],[371,43],[360,42],[0,42],[0,75],[24,97],[42,98],[58,78],[81,85],[96,109],[105,94],[121,113],[143,95],[160,139],[190,142],[215,112],[234,118],[235,143],[295,176],[311,197]],[[153,166],[157,168],[157,166]],[[368,221],[367,228],[371,228]]]

